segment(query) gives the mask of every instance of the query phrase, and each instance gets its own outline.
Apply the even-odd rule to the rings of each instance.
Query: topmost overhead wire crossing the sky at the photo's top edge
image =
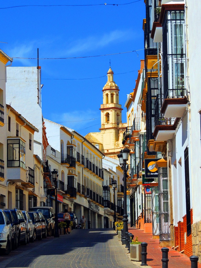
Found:
[[[39,6],[39,7],[52,7],[52,6],[123,6],[123,5],[130,5],[136,2],[140,2],[142,0],[137,0],[137,1],[133,1],[130,3],[125,3],[125,4],[91,4],[91,5],[21,5],[21,6],[9,6],[6,8],[0,8],[0,9],[9,9],[9,8],[24,8],[24,7],[28,7],[28,6]]]

